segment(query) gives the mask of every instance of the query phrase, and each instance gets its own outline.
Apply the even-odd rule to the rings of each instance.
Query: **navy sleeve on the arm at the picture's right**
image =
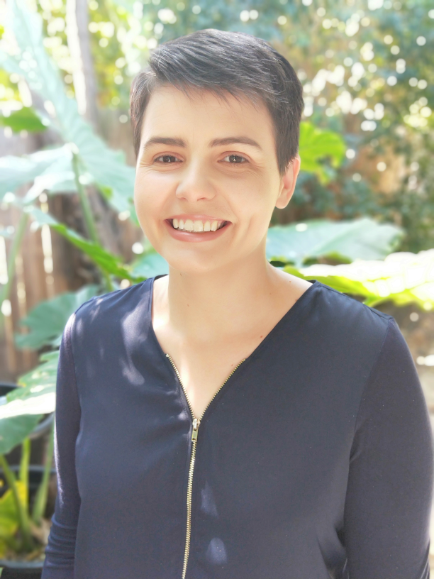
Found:
[[[345,501],[350,579],[428,579],[433,441],[404,336],[389,321],[360,402]]]

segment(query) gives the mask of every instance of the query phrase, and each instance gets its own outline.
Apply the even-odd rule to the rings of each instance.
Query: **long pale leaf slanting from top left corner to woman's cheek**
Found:
[[[79,115],[77,102],[69,99],[59,70],[43,46],[42,19],[31,12],[24,0],[8,3],[8,31],[16,47],[0,52],[0,66],[26,77],[30,89],[42,96],[51,109],[52,126],[66,143],[74,143],[87,172],[99,184],[116,211],[129,211],[138,224],[133,202],[135,170],[126,165],[122,152],[109,149],[91,126]],[[22,55],[30,55],[23,59]]]

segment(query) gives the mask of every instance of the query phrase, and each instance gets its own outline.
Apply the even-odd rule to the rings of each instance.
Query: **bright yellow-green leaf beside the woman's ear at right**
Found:
[[[345,140],[338,133],[322,130],[306,121],[300,123],[301,169],[316,173],[320,182],[330,181],[330,175],[322,161],[328,158],[332,167],[337,168],[345,158],[346,149]]]

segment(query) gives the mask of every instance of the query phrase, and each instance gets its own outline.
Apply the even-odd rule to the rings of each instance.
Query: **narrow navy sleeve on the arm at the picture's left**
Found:
[[[60,346],[56,384],[55,465],[57,497],[45,548],[42,579],[72,579],[80,496],[75,472],[75,442],[80,426],[80,406],[72,355],[69,317]]]

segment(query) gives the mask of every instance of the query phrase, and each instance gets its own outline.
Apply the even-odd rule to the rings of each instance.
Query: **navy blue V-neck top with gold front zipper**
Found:
[[[311,280],[197,426],[154,279],[63,333],[43,579],[428,579],[433,441],[394,318]]]

